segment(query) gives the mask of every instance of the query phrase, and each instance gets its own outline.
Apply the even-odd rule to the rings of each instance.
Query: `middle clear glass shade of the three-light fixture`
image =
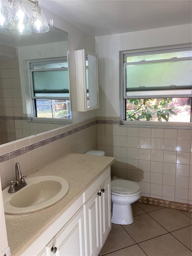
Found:
[[[33,23],[33,19],[27,7],[26,1],[13,0],[11,4],[13,13],[8,18],[12,25],[26,26]]]

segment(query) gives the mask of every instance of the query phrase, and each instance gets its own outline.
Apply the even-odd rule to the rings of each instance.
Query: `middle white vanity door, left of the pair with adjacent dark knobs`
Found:
[[[86,255],[98,255],[101,249],[98,190],[84,204]]]

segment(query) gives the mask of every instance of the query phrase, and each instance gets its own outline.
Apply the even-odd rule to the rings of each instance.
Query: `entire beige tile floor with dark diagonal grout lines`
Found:
[[[191,256],[191,212],[132,204],[134,223],[112,224],[100,256]]]

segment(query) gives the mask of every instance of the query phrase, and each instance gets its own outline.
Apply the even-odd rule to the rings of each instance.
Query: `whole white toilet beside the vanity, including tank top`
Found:
[[[90,150],[88,155],[105,155],[101,150]],[[140,185],[134,181],[113,177],[111,180],[112,218],[115,224],[128,225],[134,222],[131,203],[141,197]]]

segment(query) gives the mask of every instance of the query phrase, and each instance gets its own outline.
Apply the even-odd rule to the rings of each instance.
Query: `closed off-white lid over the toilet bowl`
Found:
[[[111,191],[119,194],[133,194],[140,190],[140,186],[130,180],[114,178],[111,181]]]

